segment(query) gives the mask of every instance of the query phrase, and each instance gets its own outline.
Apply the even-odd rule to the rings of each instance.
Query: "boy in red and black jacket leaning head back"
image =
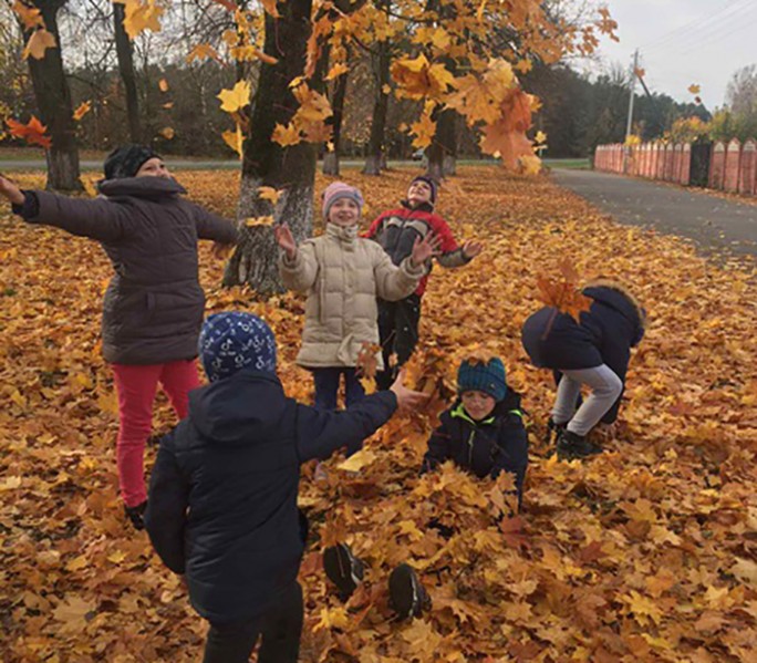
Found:
[[[392,262],[400,265],[413,252],[417,241],[432,234],[438,241],[436,259],[442,267],[467,265],[481,252],[484,246],[478,241],[466,241],[462,247],[457,245],[447,221],[434,214],[437,194],[436,180],[425,175],[415,177],[402,207],[378,216],[371,224],[365,237],[375,239],[392,258]],[[393,302],[378,300],[378,335],[384,355],[384,370],[376,375],[378,389],[388,389],[400,366],[415,350],[418,342],[421,298],[426,290],[431,269],[429,261],[426,276],[421,279],[413,294]],[[394,366],[390,365],[392,354],[396,354]]]

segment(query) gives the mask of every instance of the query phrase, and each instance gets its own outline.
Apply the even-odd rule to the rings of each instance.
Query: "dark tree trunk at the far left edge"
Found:
[[[42,12],[45,28],[55,37],[58,46],[46,49],[42,60],[30,55],[29,72],[40,120],[52,138],[52,145],[45,152],[46,187],[60,191],[81,191],[84,187],[80,179],[76,125],[72,117],[71,91],[63,72],[61,37],[58,32],[58,11],[63,4],[65,0],[37,0],[35,7]],[[25,33],[27,39],[30,35],[30,32]]]

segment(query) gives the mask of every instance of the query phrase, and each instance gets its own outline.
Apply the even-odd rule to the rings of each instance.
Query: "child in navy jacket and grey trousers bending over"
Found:
[[[592,302],[580,322],[545,307],[522,329],[523,348],[533,365],[558,373],[549,425],[558,431],[558,457],[566,459],[602,452],[587,435],[598,423],[618,418],[631,348],[644,335],[645,313],[625,288],[600,280],[584,288],[583,294]],[[591,394],[578,407],[582,385]]]

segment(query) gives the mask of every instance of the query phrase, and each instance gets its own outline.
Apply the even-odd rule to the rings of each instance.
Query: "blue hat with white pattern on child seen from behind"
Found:
[[[203,324],[199,356],[210,382],[242,369],[276,372],[276,336],[252,313],[227,311],[210,315]]]

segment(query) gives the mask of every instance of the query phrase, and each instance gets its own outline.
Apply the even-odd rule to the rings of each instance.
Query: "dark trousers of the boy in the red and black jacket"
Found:
[[[413,354],[418,342],[421,322],[421,297],[413,293],[400,301],[378,300],[378,336],[384,370],[376,374],[380,390],[392,386],[402,366]],[[396,354],[396,364],[390,366],[390,358]]]

